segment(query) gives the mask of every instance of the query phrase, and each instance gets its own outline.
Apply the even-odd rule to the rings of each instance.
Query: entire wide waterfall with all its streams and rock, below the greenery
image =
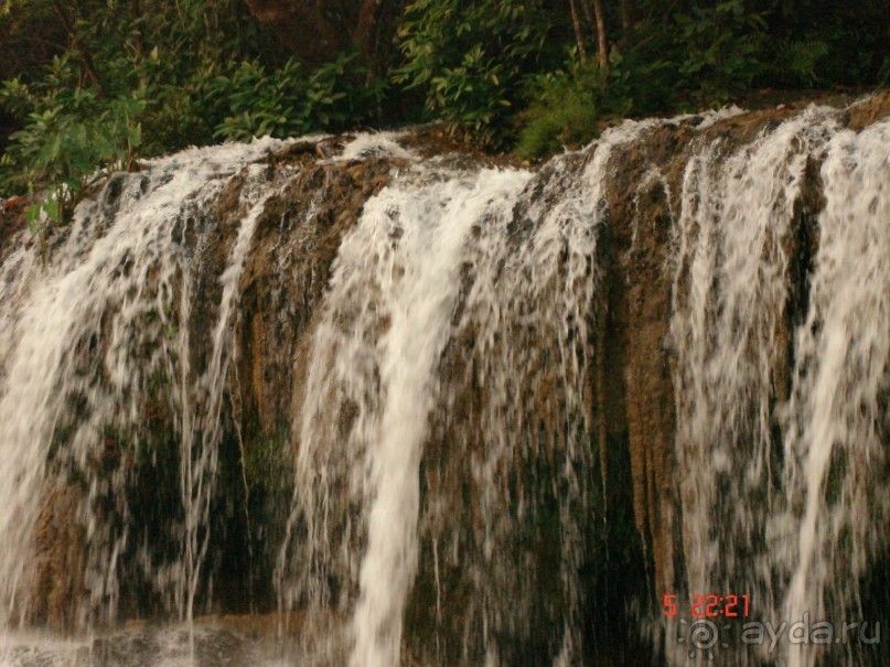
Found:
[[[881,664],[738,634],[886,623],[890,125],[855,112],[629,121],[537,171],[227,144],[20,236],[0,664],[132,664],[140,616],[147,665]],[[248,609],[254,653],[195,621]],[[85,644],[24,650],[44,622]]]

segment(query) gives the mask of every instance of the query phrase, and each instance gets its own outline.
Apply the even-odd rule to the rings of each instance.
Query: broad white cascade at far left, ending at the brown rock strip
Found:
[[[24,615],[20,583],[29,573],[31,535],[36,529],[41,498],[52,460],[62,475],[85,477],[86,498],[71,507],[72,521],[86,528],[84,575],[92,604],[114,617],[118,604],[116,562],[129,540],[126,530],[112,534],[107,516],[96,513],[100,496],[124,485],[127,462],[101,470],[103,443],[114,433],[139,430],[141,400],[156,391],[157,376],[171,380],[164,408],[175,415],[182,447],[183,547],[170,563],[146,562],[159,590],[173,600],[181,616],[191,616],[199,571],[206,551],[206,525],[218,440],[219,381],[227,364],[226,332],[235,304],[238,271],[261,211],[264,194],[246,185],[245,216],[229,267],[213,336],[208,368],[197,377],[190,367],[186,321],[192,308],[192,258],[182,245],[195,229],[192,216],[216,197],[232,174],[265,155],[280,142],[194,150],[157,161],[146,174],[121,175],[104,197],[85,202],[75,213],[53,258],[39,267],[13,256],[6,271],[18,271],[14,291],[3,300],[2,337],[8,342],[0,391],[0,605],[3,622]],[[247,180],[258,181],[251,165]],[[31,248],[34,255],[34,248]],[[179,303],[176,303],[179,294]],[[4,294],[6,297],[6,294]],[[11,309],[8,311],[7,309]],[[104,344],[98,341],[103,340]],[[143,352],[148,348],[148,354]],[[175,378],[175,385],[172,384]],[[114,432],[114,433],[112,433]],[[117,443],[110,443],[116,447]],[[51,448],[58,451],[51,451]],[[125,453],[124,456],[131,455]],[[154,455],[147,452],[144,455]],[[68,498],[71,501],[71,498]],[[124,498],[114,498],[124,504]],[[116,510],[127,513],[126,506]],[[154,569],[157,567],[157,569]],[[81,622],[84,622],[82,618]]]

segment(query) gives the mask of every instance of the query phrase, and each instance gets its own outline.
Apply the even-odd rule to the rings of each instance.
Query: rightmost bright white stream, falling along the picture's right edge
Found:
[[[862,575],[876,549],[886,548],[887,532],[876,527],[888,525],[890,497],[888,139],[888,122],[860,135],[839,132],[822,166],[826,205],[787,406],[790,516],[782,517],[782,528],[796,537],[785,602],[795,620],[807,612],[841,617],[857,603],[850,580]],[[815,665],[818,654],[796,645],[789,657],[798,667]]]

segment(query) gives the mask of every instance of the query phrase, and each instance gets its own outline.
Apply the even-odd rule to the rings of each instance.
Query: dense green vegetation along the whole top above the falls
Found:
[[[288,39],[303,6],[317,43]],[[42,193],[37,228],[97,166],[423,119],[535,159],[622,116],[886,85],[888,44],[887,0],[0,0],[0,195]]]

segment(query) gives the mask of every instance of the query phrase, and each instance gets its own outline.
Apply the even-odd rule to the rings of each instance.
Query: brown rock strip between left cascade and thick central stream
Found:
[[[397,168],[389,160],[303,168],[267,204],[245,266],[233,416],[244,439],[253,515],[264,517],[254,529],[262,561],[248,563],[264,606],[275,600],[272,574],[290,514],[292,415],[303,395],[317,311],[343,235]]]

